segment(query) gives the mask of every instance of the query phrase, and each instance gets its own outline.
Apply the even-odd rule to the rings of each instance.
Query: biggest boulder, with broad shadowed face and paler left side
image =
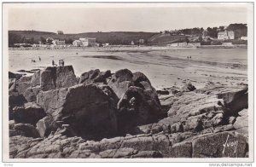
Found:
[[[68,89],[42,91],[38,105],[55,121],[70,124],[84,138],[112,135],[117,130],[118,98],[104,84],[78,84]]]

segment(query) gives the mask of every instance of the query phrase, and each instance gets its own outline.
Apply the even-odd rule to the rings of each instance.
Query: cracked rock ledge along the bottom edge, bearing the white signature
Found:
[[[228,141],[225,142],[227,137]],[[176,138],[175,135],[132,135],[102,139],[102,141],[84,141],[80,137],[49,135],[48,138],[41,141],[40,139],[13,136],[10,137],[10,147],[12,148],[10,157],[242,158],[247,152],[246,139],[235,132],[201,135],[179,143]],[[226,145],[224,145],[225,143]],[[234,147],[236,143],[239,145]]]

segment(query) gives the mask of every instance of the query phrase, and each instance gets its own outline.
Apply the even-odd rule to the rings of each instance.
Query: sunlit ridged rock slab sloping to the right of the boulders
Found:
[[[221,95],[225,98],[222,99]],[[176,95],[162,95],[160,96],[162,109],[170,108],[168,117],[154,124],[138,126],[137,133],[218,131],[218,127],[234,124],[236,118],[240,119],[237,117],[237,108],[231,110],[230,108],[234,108],[234,106],[230,104],[234,104],[237,99],[245,98],[245,95],[247,95],[247,87],[240,87],[239,89],[215,87],[208,88],[208,90],[205,88],[204,91],[196,90],[195,92],[181,92]],[[230,101],[227,101],[228,99]],[[241,101],[244,100],[241,99]],[[246,104],[241,104],[239,109],[241,107],[246,108]],[[236,128],[231,126],[229,130],[239,129],[238,126]]]

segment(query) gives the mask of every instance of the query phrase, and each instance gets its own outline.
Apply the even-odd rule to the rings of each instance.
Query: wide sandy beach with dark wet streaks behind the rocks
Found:
[[[41,57],[41,61],[38,60]],[[187,59],[191,56],[191,59]],[[36,60],[32,63],[32,59]],[[165,47],[113,47],[57,50],[9,50],[9,71],[32,70],[65,60],[77,76],[92,69],[128,68],[143,72],[156,89],[183,83],[196,88],[207,83],[247,83],[247,49],[170,49]]]

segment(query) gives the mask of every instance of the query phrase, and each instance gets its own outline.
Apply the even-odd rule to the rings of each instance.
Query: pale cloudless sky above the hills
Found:
[[[4,6],[3,6],[4,7]],[[9,30],[42,32],[160,32],[193,27],[247,24],[247,8],[200,5],[25,5],[8,8]]]

